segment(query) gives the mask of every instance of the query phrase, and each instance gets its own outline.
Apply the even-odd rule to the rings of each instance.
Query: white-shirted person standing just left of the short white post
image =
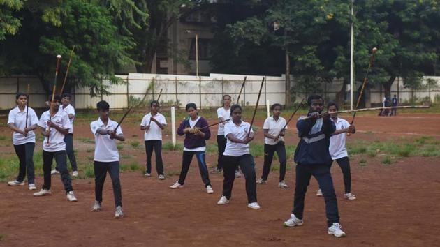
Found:
[[[162,161],[162,130],[166,126],[165,117],[159,113],[159,101],[153,100],[150,103],[151,112],[146,114],[140,122],[140,130],[145,131],[145,154],[147,154],[147,170],[145,177],[152,176],[152,154],[156,154],[156,172],[160,180],[165,179],[163,175]]]

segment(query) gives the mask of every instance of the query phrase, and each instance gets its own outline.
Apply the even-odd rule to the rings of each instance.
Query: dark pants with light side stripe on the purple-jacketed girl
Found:
[[[210,174],[207,171],[207,165],[205,161],[205,152],[204,151],[184,151],[182,156],[182,171],[180,171],[179,176],[179,184],[185,183],[186,174],[189,171],[189,165],[191,165],[191,160],[193,160],[194,154],[196,155],[198,162],[198,170],[200,170],[200,177],[202,177],[203,183],[205,186],[211,185]]]

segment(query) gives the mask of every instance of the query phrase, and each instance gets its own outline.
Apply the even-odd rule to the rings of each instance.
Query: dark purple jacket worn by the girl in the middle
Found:
[[[208,123],[206,121],[206,119],[204,119],[203,117],[200,117],[200,119],[198,119],[196,126],[194,126],[194,128],[198,127],[198,128],[202,128],[204,126],[208,126]],[[198,135],[193,135],[191,133],[184,133],[183,130],[185,128],[190,128],[189,126],[189,118],[185,119],[184,121],[182,121],[182,123],[180,123],[179,128],[177,129],[177,135],[185,135],[185,140],[184,140],[184,147],[186,147],[187,149],[193,149],[196,147],[204,147],[206,146],[206,142],[205,140],[209,140],[211,137],[211,132],[210,132],[210,128],[203,128],[200,131],[202,131],[203,133],[205,133],[205,137],[202,138]]]

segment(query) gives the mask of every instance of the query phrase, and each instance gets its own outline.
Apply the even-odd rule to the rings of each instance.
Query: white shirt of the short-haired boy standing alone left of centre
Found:
[[[114,162],[119,161],[119,151],[116,147],[116,139],[110,139],[110,135],[98,134],[98,129],[114,130],[117,122],[108,119],[107,126],[101,121],[101,118],[90,123],[91,133],[95,135],[95,157],[94,161]],[[122,134],[122,128],[119,126],[116,135]]]

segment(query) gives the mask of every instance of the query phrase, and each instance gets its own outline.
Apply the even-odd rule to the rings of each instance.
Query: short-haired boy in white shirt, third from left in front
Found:
[[[101,211],[105,177],[110,174],[115,197],[115,218],[123,218],[121,181],[119,180],[119,151],[116,140],[124,142],[125,138],[120,123],[110,120],[110,105],[104,100],[96,104],[99,118],[90,123],[91,133],[95,136],[94,174],[95,202],[91,211]]]

